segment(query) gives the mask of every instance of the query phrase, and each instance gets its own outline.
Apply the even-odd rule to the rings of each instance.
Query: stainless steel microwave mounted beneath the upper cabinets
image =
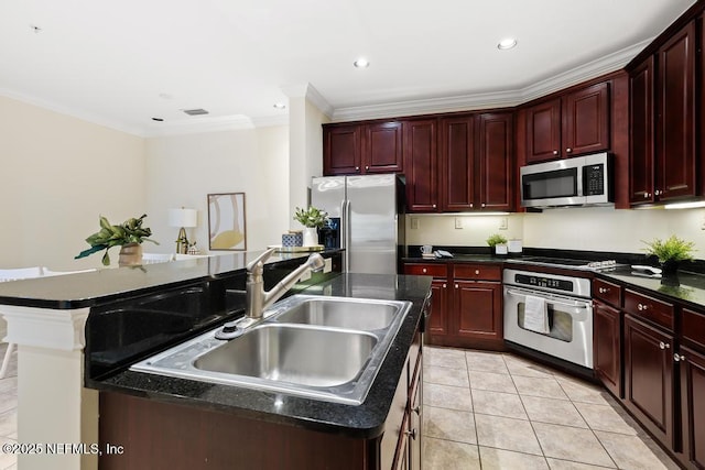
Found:
[[[522,166],[522,207],[564,207],[614,203],[612,159],[607,152]]]

